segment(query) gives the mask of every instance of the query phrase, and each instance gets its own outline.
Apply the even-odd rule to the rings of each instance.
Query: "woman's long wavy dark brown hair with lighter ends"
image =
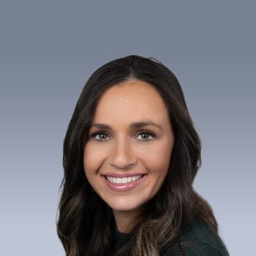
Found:
[[[211,207],[192,186],[201,166],[201,140],[180,83],[158,60],[129,55],[106,63],[90,76],[66,131],[57,233],[67,256],[112,254],[113,212],[92,190],[84,172],[83,154],[99,98],[114,84],[133,79],[148,82],[162,96],[169,110],[175,143],[164,183],[146,203],[132,238],[116,255],[156,256],[161,251],[172,250],[195,215],[217,232]]]

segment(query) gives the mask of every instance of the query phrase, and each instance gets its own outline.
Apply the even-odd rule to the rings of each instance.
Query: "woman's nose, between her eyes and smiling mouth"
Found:
[[[130,142],[126,139],[117,140],[110,154],[110,165],[116,169],[130,169],[137,162],[135,154],[132,152]]]

